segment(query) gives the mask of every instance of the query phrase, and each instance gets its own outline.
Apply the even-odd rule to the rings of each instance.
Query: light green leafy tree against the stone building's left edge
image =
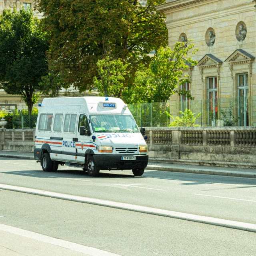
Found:
[[[179,85],[188,81],[184,70],[197,64],[188,56],[190,51],[192,54],[196,52],[193,48],[191,41],[188,44],[177,42],[173,49],[160,47],[149,67],[141,65],[136,72],[131,102],[165,102],[174,93],[186,94],[193,99],[189,91],[179,89]]]

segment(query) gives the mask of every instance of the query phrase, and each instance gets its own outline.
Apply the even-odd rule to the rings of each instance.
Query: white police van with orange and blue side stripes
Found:
[[[130,170],[141,176],[148,164],[146,136],[119,98],[45,98],[38,106],[34,157],[46,172],[59,165]]]

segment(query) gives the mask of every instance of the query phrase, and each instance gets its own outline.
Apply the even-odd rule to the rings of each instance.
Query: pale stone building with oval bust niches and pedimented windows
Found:
[[[226,116],[255,126],[256,0],[166,0],[156,8],[166,14],[170,47],[192,39],[198,48],[198,65],[183,85],[195,100],[172,96],[172,114],[188,107],[202,112],[202,125],[220,125]]]

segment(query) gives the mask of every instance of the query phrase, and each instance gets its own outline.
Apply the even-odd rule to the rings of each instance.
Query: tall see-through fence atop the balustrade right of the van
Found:
[[[208,100],[167,101],[129,104],[138,126],[166,127],[176,117],[187,126],[186,109],[191,110],[198,126],[256,126],[256,96]],[[185,114],[184,114],[185,112]],[[174,119],[171,118],[174,117]]]

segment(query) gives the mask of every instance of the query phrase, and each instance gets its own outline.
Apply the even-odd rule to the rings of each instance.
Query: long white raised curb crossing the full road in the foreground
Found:
[[[176,219],[180,219],[180,220],[200,222],[200,223],[204,223],[204,224],[221,226],[221,227],[225,227],[225,228],[233,228],[233,229],[244,230],[244,231],[249,231],[249,232],[256,232],[256,224],[251,224],[251,223],[238,222],[238,221],[233,221],[233,220],[224,220],[224,219],[219,219],[219,218],[206,217],[206,216],[188,214],[188,213],[183,213],[183,212],[162,210],[162,209],[157,209],[157,208],[152,208],[152,207],[147,207],[147,206],[139,206],[139,205],[135,205],[135,204],[126,204],[126,203],[108,201],[108,200],[103,200],[103,199],[88,198],[88,197],[83,197],[83,196],[73,196],[73,195],[68,195],[68,194],[49,192],[49,191],[44,191],[44,190],[24,188],[24,187],[18,187],[18,186],[11,186],[11,185],[5,185],[5,184],[0,184],[0,189],[22,192],[22,193],[27,193],[27,194],[33,194],[33,195],[38,195],[38,196],[46,196],[46,197],[68,200],[68,201],[73,201],[73,202],[80,202],[80,203],[85,203],[85,204],[106,206],[106,207],[111,207],[111,208],[116,208],[116,209],[121,209],[121,210],[153,214],[153,215],[158,215],[158,216],[163,216],[163,217],[176,218]]]

